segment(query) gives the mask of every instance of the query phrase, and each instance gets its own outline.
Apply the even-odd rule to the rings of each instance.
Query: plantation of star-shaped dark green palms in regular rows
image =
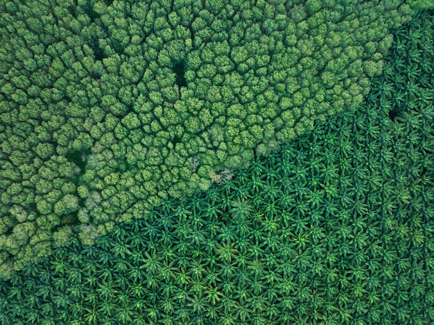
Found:
[[[434,12],[348,109],[0,283],[2,324],[433,324]]]

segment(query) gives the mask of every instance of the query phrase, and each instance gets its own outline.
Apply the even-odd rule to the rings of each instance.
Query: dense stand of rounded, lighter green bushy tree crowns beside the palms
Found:
[[[413,15],[395,0],[1,0],[0,12],[6,270],[354,111]]]

